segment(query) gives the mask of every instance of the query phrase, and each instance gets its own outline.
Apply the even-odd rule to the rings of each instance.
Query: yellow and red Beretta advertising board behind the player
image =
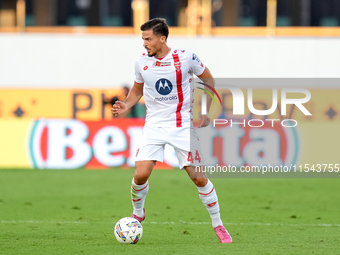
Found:
[[[0,168],[133,167],[143,126],[143,119],[2,119]],[[340,164],[340,123],[301,123],[295,128],[237,125],[234,130],[224,129],[227,132],[220,133],[218,139],[211,125],[200,130],[205,136],[201,138],[214,146],[209,153],[219,162],[233,164],[241,159],[252,165],[254,160],[265,160],[278,151],[278,160],[284,165]],[[116,148],[115,153],[111,148]],[[178,167],[171,153],[165,159],[158,167]]]

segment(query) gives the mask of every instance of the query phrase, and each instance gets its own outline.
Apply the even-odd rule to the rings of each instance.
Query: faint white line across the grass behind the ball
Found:
[[[30,223],[30,224],[115,224],[115,222],[86,222],[86,221],[37,221],[37,220],[1,220],[0,223],[3,224],[18,224],[18,223]],[[152,225],[182,225],[182,224],[188,224],[188,225],[208,225],[211,224],[211,222],[192,222],[192,221],[165,221],[165,222],[143,222],[143,224],[152,224]],[[308,223],[265,223],[265,222],[239,222],[239,223],[233,223],[233,222],[226,222],[224,225],[239,225],[239,226],[291,226],[291,227],[340,227],[340,224],[326,224],[326,223],[320,223],[320,224],[308,224]]]

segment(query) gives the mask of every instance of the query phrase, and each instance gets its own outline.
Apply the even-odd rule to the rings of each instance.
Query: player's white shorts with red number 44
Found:
[[[156,160],[163,162],[164,147],[175,149],[180,169],[184,166],[204,165],[198,135],[194,128],[144,127],[136,161]]]

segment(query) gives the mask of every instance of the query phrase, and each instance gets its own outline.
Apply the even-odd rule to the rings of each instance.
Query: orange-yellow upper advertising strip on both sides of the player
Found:
[[[249,117],[247,107],[247,90],[245,95],[245,118]],[[340,90],[309,89],[311,99],[303,105],[311,116],[304,115],[300,109],[287,105],[286,116],[281,116],[281,93],[278,90],[278,106],[275,112],[266,118],[296,119],[300,122],[329,121],[340,122]],[[232,115],[233,97],[230,91],[217,89],[222,99],[222,107],[212,103],[210,117],[228,117]],[[273,103],[272,89],[255,89],[253,91],[253,105],[258,110],[269,109]],[[195,93],[194,108],[200,109],[202,92]],[[299,98],[301,95],[288,94],[289,98]],[[215,96],[216,97],[216,96]],[[2,89],[0,90],[0,118],[29,117],[29,118],[75,118],[84,121],[112,119],[110,103],[114,98],[125,99],[123,89],[112,90],[79,90],[79,89]],[[263,119],[264,116],[253,115],[252,118]],[[195,115],[197,120],[197,114]]]

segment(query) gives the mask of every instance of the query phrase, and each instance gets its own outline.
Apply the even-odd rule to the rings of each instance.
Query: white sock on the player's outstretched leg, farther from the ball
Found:
[[[197,187],[200,199],[202,200],[203,204],[207,208],[211,220],[213,228],[216,228],[219,225],[223,225],[220,217],[220,206],[218,204],[218,198],[216,195],[215,187],[208,180],[207,185],[204,187]]]

